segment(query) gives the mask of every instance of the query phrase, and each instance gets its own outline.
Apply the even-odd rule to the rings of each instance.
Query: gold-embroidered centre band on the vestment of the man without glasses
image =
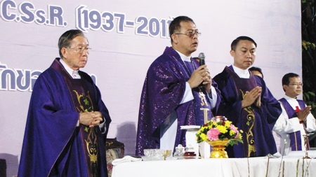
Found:
[[[238,98],[240,101],[244,99],[246,91],[252,90],[257,86],[254,75],[250,75],[250,78],[239,78],[239,76],[232,70],[226,68],[235,81],[235,87],[237,90]],[[246,157],[256,157],[256,146],[254,139],[254,122],[256,116],[254,114],[254,105],[251,104],[245,108],[242,108],[242,141],[244,141],[244,155]]]

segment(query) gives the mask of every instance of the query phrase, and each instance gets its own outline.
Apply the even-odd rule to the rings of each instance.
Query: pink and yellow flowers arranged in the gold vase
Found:
[[[232,146],[238,142],[243,143],[241,133],[242,130],[238,130],[225,116],[216,116],[197,131],[197,143],[228,139],[228,145]]]

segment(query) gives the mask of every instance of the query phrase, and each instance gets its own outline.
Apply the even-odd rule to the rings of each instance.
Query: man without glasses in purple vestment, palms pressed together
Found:
[[[277,153],[272,128],[282,111],[263,79],[248,68],[256,59],[256,42],[247,36],[232,41],[232,66],[214,77],[220,90],[218,115],[242,129],[243,143],[228,146],[229,157],[256,157]]]

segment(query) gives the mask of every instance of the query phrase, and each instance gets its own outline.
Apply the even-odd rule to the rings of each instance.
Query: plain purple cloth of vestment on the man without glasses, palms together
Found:
[[[232,72],[231,72],[232,71]],[[214,80],[218,84],[218,89],[220,90],[220,106],[218,107],[218,115],[224,115],[228,120],[238,127],[238,129],[249,129],[247,123],[244,122],[246,118],[242,115],[244,109],[242,108],[242,95],[240,90],[237,90],[237,84],[239,84],[232,77],[232,73],[235,73],[232,69],[232,66],[225,67],[222,73],[219,73],[214,77]],[[265,82],[262,78],[254,76],[252,73],[251,78],[255,79],[256,85],[262,87],[261,92],[261,108],[258,108],[254,105],[251,105],[251,116],[254,116],[254,122],[251,123],[254,127],[253,136],[254,136],[254,147],[256,148],[256,156],[265,156],[270,154],[277,153],[277,148],[275,145],[275,139],[272,136],[272,128],[279,118],[279,115],[282,113],[281,106],[279,102],[272,96],[271,92],[266,87]],[[238,77],[238,76],[237,76]],[[251,79],[249,78],[249,79]],[[242,78],[240,78],[242,80]],[[245,80],[245,78],[243,78]],[[250,91],[255,85],[249,87]],[[242,136],[246,136],[245,132]],[[244,139],[243,139],[244,140]],[[244,148],[249,146],[247,143],[238,143],[234,145],[233,153],[228,152],[230,157],[246,157],[244,153]],[[228,151],[231,148],[228,148]]]

